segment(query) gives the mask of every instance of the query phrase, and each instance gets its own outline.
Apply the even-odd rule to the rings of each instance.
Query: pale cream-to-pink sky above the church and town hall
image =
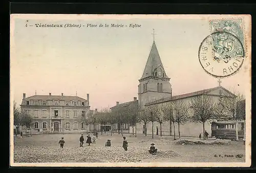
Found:
[[[28,20],[28,21],[26,21]],[[35,24],[123,24],[124,28],[39,28]],[[33,25],[26,27],[25,25]],[[130,24],[141,27],[130,28]],[[198,59],[210,33],[207,19],[193,18],[15,18],[11,45],[11,96],[20,104],[23,93],[87,98],[101,110],[138,98],[138,84],[155,42],[173,95],[217,87]],[[246,66],[221,79],[226,89],[245,93]]]

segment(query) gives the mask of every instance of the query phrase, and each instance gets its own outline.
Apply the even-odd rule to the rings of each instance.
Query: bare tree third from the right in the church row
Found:
[[[181,100],[173,100],[173,117],[174,121],[178,123],[178,132],[179,132],[179,138],[180,138],[180,124],[184,124],[189,118],[188,118],[188,107],[186,103]]]

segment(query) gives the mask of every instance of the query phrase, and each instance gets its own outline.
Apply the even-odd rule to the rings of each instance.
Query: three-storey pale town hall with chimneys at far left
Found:
[[[82,122],[90,113],[89,94],[87,100],[78,96],[23,94],[22,111],[33,117],[27,128],[32,134],[88,132],[89,125]],[[90,129],[89,129],[90,131]]]

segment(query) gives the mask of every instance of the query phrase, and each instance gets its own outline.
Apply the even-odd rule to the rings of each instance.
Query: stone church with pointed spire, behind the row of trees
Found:
[[[147,58],[144,72],[142,77],[139,79],[138,100],[134,99],[134,101],[126,103],[117,102],[117,105],[111,107],[111,111],[114,111],[115,109],[122,109],[122,107],[127,107],[130,104],[138,104],[139,109],[143,110],[143,107],[146,105],[162,104],[177,99],[181,99],[186,104],[189,104],[191,98],[202,94],[213,97],[214,101],[217,103],[221,94],[223,93],[233,96],[231,92],[221,87],[219,80],[218,87],[173,96],[170,77],[165,73],[161,58],[157,50],[156,42],[154,40],[150,54]],[[205,130],[209,133],[210,136],[212,131],[211,123],[212,122],[210,121],[205,123]],[[143,123],[137,123],[136,126],[137,134],[147,133],[147,135],[152,135],[151,123],[147,123],[146,127],[143,125]],[[117,128],[117,126],[114,126],[114,130],[116,130],[115,127]],[[131,125],[123,124],[123,127],[125,127],[124,130],[126,130],[126,133],[133,133],[133,127]],[[162,124],[162,135],[174,135],[174,129],[172,128],[173,125],[170,129],[170,123],[164,122]],[[147,130],[145,131],[145,129]],[[158,122],[154,122],[153,131],[154,135],[160,135],[160,124]],[[187,122],[183,125],[180,125],[181,136],[198,137],[200,133],[202,134],[202,131],[202,123]],[[178,128],[175,128],[175,133],[176,135],[178,134]]]

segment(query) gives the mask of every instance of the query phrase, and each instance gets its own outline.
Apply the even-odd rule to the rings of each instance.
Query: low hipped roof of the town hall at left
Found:
[[[27,97],[25,99],[30,100],[77,100],[77,101],[87,101],[81,97],[77,96],[53,96],[53,95],[34,95]]]

